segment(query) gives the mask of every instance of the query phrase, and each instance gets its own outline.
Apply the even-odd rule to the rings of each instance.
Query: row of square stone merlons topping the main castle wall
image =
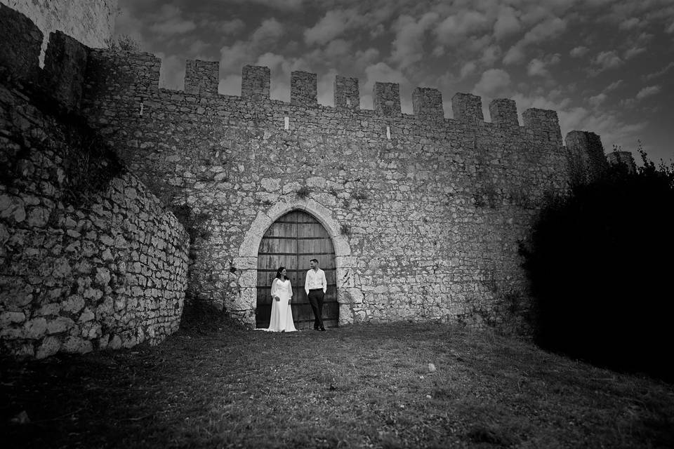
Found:
[[[159,69],[161,61],[149,53],[126,55],[126,58],[137,58],[140,68],[139,76],[145,79],[156,79],[157,83],[147,86],[151,90],[159,90]],[[203,97],[218,96],[220,80],[219,64],[216,61],[187,60],[185,65],[185,93]],[[242,100],[252,102],[269,102],[271,71],[269,67],[246,65],[242,68],[241,95]],[[289,105],[296,107],[322,107],[319,105],[317,91],[317,74],[303,71],[291,73]],[[180,91],[177,91],[180,92]],[[334,108],[358,112],[360,107],[359,80],[348,76],[336,75],[333,82]],[[220,95],[231,98],[233,95]],[[399,83],[376,82],[372,91],[373,112],[386,118],[409,116],[402,114],[400,105]],[[421,121],[437,123],[451,119],[445,118],[442,93],[435,88],[417,87],[412,93],[412,116]],[[451,98],[451,111],[454,120],[459,123],[484,122],[482,98],[470,93],[456,93]],[[498,126],[520,126],[517,119],[517,105],[508,98],[496,98],[489,103],[491,123]],[[545,109],[526,109],[522,113],[524,128],[536,130],[536,134],[548,142],[562,142],[557,113]]]

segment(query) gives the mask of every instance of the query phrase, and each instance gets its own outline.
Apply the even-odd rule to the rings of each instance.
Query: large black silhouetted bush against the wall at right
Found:
[[[674,380],[674,164],[640,149],[636,173],[612,166],[550,199],[522,243],[543,347]]]

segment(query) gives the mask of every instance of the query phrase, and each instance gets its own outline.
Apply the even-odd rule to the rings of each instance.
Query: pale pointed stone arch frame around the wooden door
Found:
[[[255,326],[260,241],[276,220],[292,210],[303,210],[315,217],[332,239],[335,249],[339,324],[353,323],[352,304],[362,302],[363,298],[361,290],[356,285],[356,258],[351,255],[348,239],[341,234],[341,227],[333,219],[331,211],[312,199],[282,200],[266,212],[258,212],[244,236],[238,257],[234,257],[233,265],[237,270],[241,270],[242,274],[239,276],[240,293],[234,299],[234,304],[228,307],[229,311],[246,324]]]

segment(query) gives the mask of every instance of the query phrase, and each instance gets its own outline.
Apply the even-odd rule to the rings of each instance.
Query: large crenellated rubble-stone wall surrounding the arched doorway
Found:
[[[269,69],[250,66],[242,98],[197,95],[159,88],[153,55],[91,58],[112,67],[85,94],[95,126],[122,130],[115,147],[154,192],[208,217],[190,269],[197,300],[253,324],[256,260],[241,256],[247,236],[266,230],[255,223],[273,222],[277,210],[326,210],[348,244],[338,257],[341,323],[522,330],[529,295],[518,241],[544,196],[569,182],[555,112],[534,109],[520,126],[514,102],[501,101],[489,123],[481,99],[461,94],[460,119],[438,119],[441,95],[425,90],[418,116],[402,114],[395,83],[376,84],[378,109],[362,110],[357,83],[342,77],[338,107],[324,107],[314,86],[300,86],[315,83],[304,72],[281,102],[269,98]],[[131,87],[120,89],[120,78]]]

